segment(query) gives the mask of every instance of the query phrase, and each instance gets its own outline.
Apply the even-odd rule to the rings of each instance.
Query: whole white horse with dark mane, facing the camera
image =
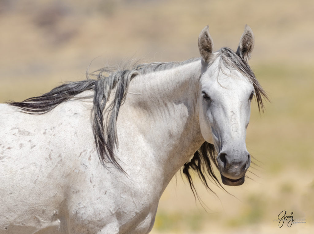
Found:
[[[104,68],[1,104],[0,233],[149,233],[182,166],[192,189],[191,170],[219,183],[210,160],[241,185],[251,100],[263,109],[266,97],[247,64],[253,46],[246,26],[236,53],[213,53],[207,26],[201,58]]]

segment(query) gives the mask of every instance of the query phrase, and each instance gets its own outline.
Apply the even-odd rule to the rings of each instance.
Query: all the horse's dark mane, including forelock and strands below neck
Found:
[[[218,51],[217,56],[221,56],[221,64],[224,64],[230,69],[239,70],[252,82],[256,93],[258,107],[263,110],[262,96],[265,98],[267,98],[267,96],[249,65],[238,54],[226,47],[221,48]],[[21,111],[28,114],[45,114],[60,103],[70,99],[93,98],[92,127],[100,162],[105,167],[109,163],[123,171],[114,154],[115,149],[118,147],[116,120],[120,106],[126,97],[127,87],[130,81],[137,75],[167,70],[197,60],[200,60],[200,58],[192,58],[184,62],[139,64],[133,66],[133,68],[129,70],[102,68],[91,74],[87,73],[87,79],[84,81],[64,83],[41,96],[31,97],[22,102],[9,102],[8,104],[18,107]],[[94,95],[80,95],[77,97],[78,94],[88,90],[94,91]],[[105,124],[103,112],[112,90],[115,91],[114,99],[110,104],[111,106],[109,106],[109,118]],[[217,152],[214,145],[204,142],[198,151],[195,152],[194,155],[191,155],[191,159],[183,165],[183,173],[186,175],[193,193],[195,188],[190,170],[194,170],[198,173],[206,187],[209,188],[206,174],[208,174],[216,184],[218,183],[220,185],[211,164],[211,162],[213,162],[214,166],[218,167],[216,157]]]

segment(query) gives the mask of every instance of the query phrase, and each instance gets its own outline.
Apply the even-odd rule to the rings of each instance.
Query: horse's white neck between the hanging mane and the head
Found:
[[[201,62],[134,78],[127,99],[162,168],[165,186],[204,142],[198,121]],[[164,188],[165,188],[164,186]]]

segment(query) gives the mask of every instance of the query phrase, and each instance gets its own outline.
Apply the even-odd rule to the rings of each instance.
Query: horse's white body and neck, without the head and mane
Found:
[[[186,77],[180,74],[178,83],[191,89],[191,72],[187,71],[199,71],[199,61],[187,66],[181,69]],[[198,120],[189,113],[192,99],[181,99],[184,92],[173,95],[173,90],[166,98],[162,87],[176,88],[175,75],[160,73],[138,76],[147,82],[130,84],[119,111],[117,135],[123,147],[116,155],[127,176],[99,162],[90,125],[92,102],[71,100],[44,115],[17,112],[1,104],[0,207],[6,214],[0,216],[1,229],[7,227],[12,233],[147,233],[165,187],[202,144],[200,134],[191,131],[197,126],[199,131]],[[194,76],[196,82],[198,72]],[[145,89],[156,89],[154,97],[138,98],[139,93],[147,93]]]

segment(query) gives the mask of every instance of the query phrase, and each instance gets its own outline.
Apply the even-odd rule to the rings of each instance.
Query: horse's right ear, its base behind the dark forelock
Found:
[[[246,62],[251,58],[251,53],[254,48],[254,34],[252,29],[245,25],[244,33],[240,38],[239,47],[236,53],[243,58]]]

